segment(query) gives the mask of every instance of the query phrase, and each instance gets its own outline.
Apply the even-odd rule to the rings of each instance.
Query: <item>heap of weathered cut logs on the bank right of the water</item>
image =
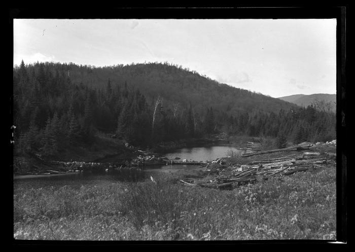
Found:
[[[315,169],[332,163],[327,157],[319,158],[319,153],[302,153],[301,155],[289,155],[273,159],[264,159],[249,162],[247,165],[229,166],[222,169],[208,170],[212,173],[220,173],[221,171],[230,170],[232,175],[220,175],[213,181],[207,183],[194,183],[191,181],[180,181],[186,186],[208,187],[217,189],[233,189],[240,185],[248,183],[257,183],[267,180],[273,176],[286,176],[296,172]]]

